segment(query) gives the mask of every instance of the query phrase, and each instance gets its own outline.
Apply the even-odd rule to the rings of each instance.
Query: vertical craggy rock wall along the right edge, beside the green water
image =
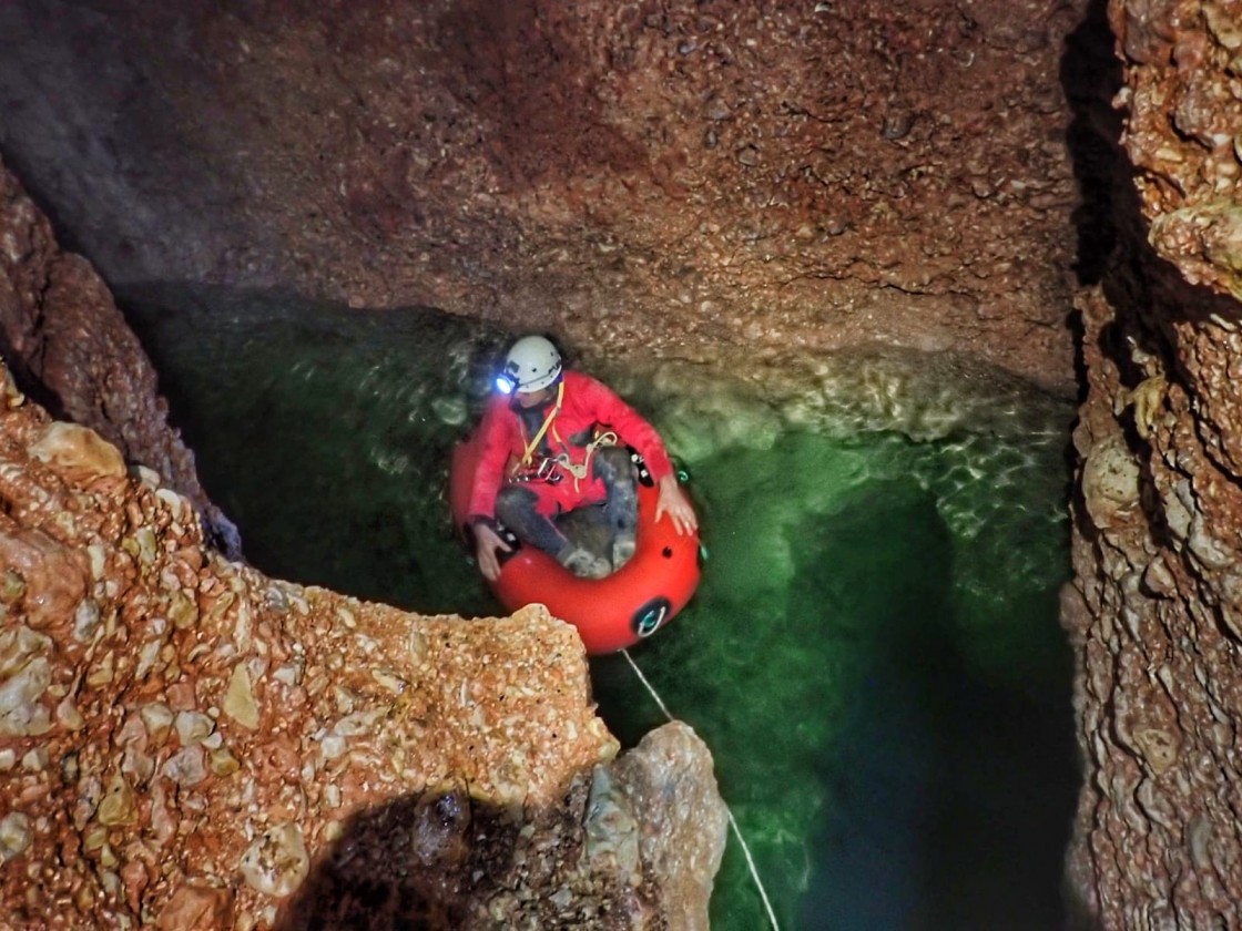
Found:
[[[1114,0],[1109,19],[1136,175],[1108,274],[1078,302],[1089,394],[1063,608],[1087,772],[1071,876],[1084,927],[1236,927],[1242,4]]]

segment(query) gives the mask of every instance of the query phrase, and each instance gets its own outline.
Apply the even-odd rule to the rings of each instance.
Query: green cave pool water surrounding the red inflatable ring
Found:
[[[122,298],[252,562],[496,611],[445,480],[501,334],[224,290]],[[689,472],[709,554],[691,606],[631,654],[712,747],[780,926],[1059,926],[1068,406],[881,350],[801,360],[768,390],[601,374]],[[592,677],[623,742],[664,720],[623,658]],[[712,926],[769,926],[733,837]]]

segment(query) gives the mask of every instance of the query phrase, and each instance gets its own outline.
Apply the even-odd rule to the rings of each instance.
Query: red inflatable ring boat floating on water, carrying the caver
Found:
[[[467,539],[466,508],[481,453],[476,434],[453,451],[448,474],[453,523]],[[632,647],[686,607],[699,581],[698,534],[678,534],[668,518],[656,521],[658,490],[642,474],[637,549],[628,562],[605,578],[579,578],[548,554],[518,545],[491,582],[505,609],[545,605],[578,628],[587,653],[600,654]]]

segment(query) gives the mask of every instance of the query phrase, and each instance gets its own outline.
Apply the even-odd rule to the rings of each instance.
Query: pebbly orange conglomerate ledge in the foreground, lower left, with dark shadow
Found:
[[[607,765],[573,628],[266,578],[0,381],[5,926],[705,926],[710,757]]]

